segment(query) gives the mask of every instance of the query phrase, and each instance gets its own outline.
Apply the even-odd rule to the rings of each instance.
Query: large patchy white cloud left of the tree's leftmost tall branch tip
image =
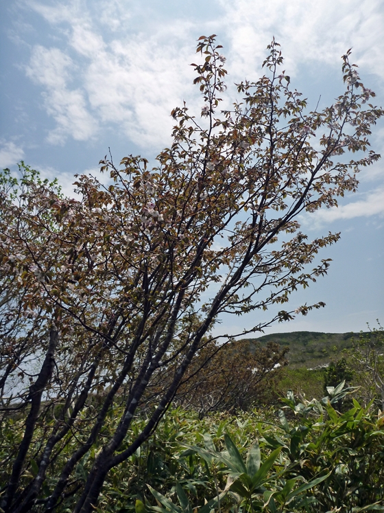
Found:
[[[192,38],[186,34],[191,23],[159,27],[145,37],[123,32],[107,44],[95,19],[80,12],[78,3],[31,5],[49,23],[71,24],[69,47],[35,47],[27,68],[28,76],[45,88],[45,108],[58,124],[48,140],[60,143],[67,135],[90,139],[101,124],[117,126],[141,147],[167,144],[173,124],[169,113],[182,104],[181,91],[193,77],[188,66],[194,56]],[[167,38],[170,43],[164,43]],[[80,80],[80,88],[70,89],[73,78]]]

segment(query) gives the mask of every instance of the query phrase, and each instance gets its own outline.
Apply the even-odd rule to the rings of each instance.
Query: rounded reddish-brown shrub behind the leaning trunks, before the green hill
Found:
[[[247,340],[224,347],[206,345],[192,361],[176,393],[178,404],[210,411],[247,410],[274,398],[278,369],[287,365],[288,347],[273,342],[263,347]]]

